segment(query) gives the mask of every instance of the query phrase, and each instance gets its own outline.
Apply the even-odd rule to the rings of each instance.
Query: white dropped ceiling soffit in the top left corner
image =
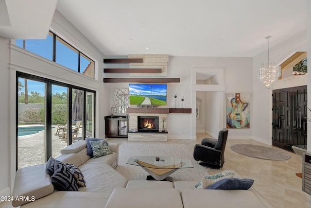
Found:
[[[57,0],[0,0],[0,36],[7,39],[46,38]]]

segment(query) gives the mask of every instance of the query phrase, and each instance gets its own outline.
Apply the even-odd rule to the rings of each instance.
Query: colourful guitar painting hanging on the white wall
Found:
[[[227,128],[250,128],[250,93],[226,93]]]

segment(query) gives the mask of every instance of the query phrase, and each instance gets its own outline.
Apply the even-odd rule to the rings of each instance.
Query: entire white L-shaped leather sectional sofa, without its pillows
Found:
[[[61,150],[56,159],[74,164],[84,174],[86,187],[79,191],[55,191],[46,164],[17,170],[14,207],[22,208],[272,208],[255,189],[198,190],[198,181],[127,181],[114,168],[118,165],[119,146],[109,143],[113,154],[91,158],[86,141]],[[238,174],[234,177],[241,178]],[[28,198],[27,198],[28,197]],[[35,199],[35,200],[34,200]]]

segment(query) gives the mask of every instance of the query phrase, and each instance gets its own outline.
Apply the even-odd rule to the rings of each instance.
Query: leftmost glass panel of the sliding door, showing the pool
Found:
[[[18,168],[45,162],[46,83],[17,79]]]

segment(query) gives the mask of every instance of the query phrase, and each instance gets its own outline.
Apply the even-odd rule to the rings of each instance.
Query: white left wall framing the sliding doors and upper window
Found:
[[[95,134],[99,137],[104,135],[104,115],[108,111],[105,106],[109,103],[109,100],[106,99],[107,91],[104,89],[103,83],[104,55],[57,12],[55,12],[52,21],[52,30],[57,35],[62,34],[63,38],[70,39],[70,44],[94,59],[96,79],[88,78],[36,54],[27,52],[14,44],[9,44],[9,40],[0,38],[0,94],[2,99],[0,105],[2,138],[0,145],[0,157],[2,158],[0,195],[8,196],[12,192],[9,187],[14,185],[16,171],[16,71],[95,90],[97,123]]]

